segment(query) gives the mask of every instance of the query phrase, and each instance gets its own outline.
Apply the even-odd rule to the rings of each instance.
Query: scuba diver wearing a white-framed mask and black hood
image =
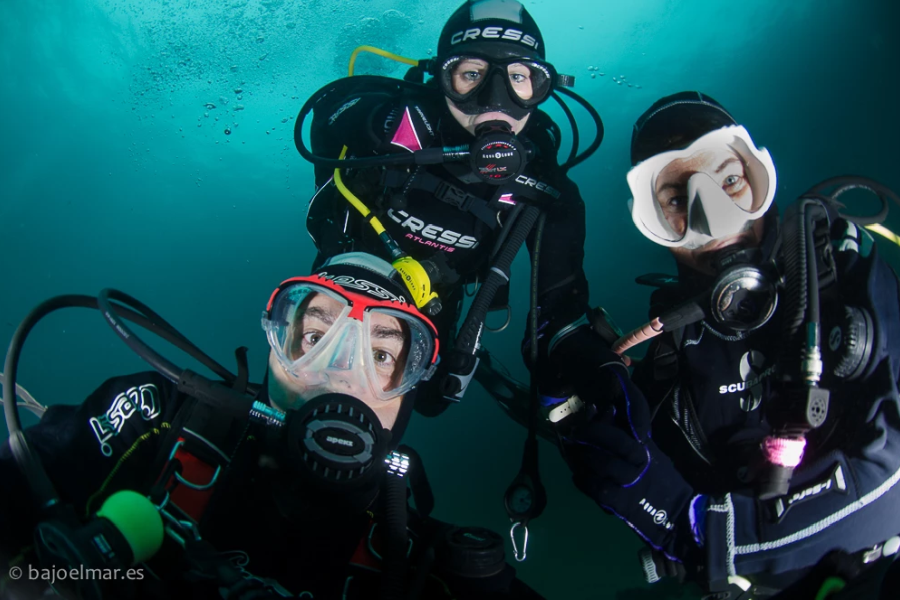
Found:
[[[677,276],[637,279],[657,288],[650,320],[597,359],[605,380],[591,374],[581,410],[555,424],[573,481],[646,542],[649,582],[878,597],[875,579],[862,595],[834,582],[900,546],[900,294],[867,230],[900,200],[840,177],[779,218],[769,152],[694,91],[638,119],[631,163],[632,219]],[[841,212],[850,189],[882,212]],[[836,556],[844,575],[823,576]]]

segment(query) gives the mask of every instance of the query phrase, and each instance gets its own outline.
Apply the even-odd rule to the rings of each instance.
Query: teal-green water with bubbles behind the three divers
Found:
[[[0,340],[6,344],[51,296],[112,287],[147,303],[228,367],[233,350],[248,346],[258,381],[267,351],[260,313],[275,286],[306,274],[314,255],[305,231],[312,169],[292,140],[297,111],[346,75],[359,45],[428,56],[457,5],[5,0]],[[577,77],[575,90],[605,124],[602,146],[571,176],[587,205],[591,302],[623,328],[646,316],[650,290],[634,277],[674,271],[626,209],[631,127],[661,96],[693,89],[722,102],[772,153],[781,206],[834,175],[900,189],[895,2],[534,0],[527,7],[541,24],[548,59]],[[369,55],[357,65],[358,73],[390,76],[404,69]],[[560,111],[548,110],[568,144]],[[575,111],[583,148],[592,129]],[[876,206],[860,196],[851,208]],[[895,230],[898,215],[895,207],[887,223]],[[900,265],[895,246],[880,246]],[[486,339],[523,379],[527,284],[523,252],[514,264],[512,324]],[[43,403],[78,403],[107,377],[146,368],[99,313],[72,309],[34,331],[19,382]],[[436,516],[499,531],[508,557],[501,498],[525,435],[474,386],[441,418],[416,417],[406,437],[428,469]],[[520,576],[550,599],[677,597],[666,584],[643,583],[637,537],[574,489],[553,447],[542,443],[541,452],[549,506],[531,525],[527,560],[515,563]]]

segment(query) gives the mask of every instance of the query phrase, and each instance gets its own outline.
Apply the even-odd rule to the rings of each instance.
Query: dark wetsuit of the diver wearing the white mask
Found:
[[[769,219],[767,229],[772,225]],[[653,440],[705,498],[695,504],[692,523],[707,581],[739,575],[779,589],[831,550],[859,552],[900,533],[898,279],[864,229],[839,219],[831,236],[837,282],[823,287],[821,297],[828,420],[808,434],[786,496],[761,501],[742,481],[770,432],[767,410],[777,402],[773,368],[785,326],[783,295],[773,319],[750,333],[701,321],[677,339],[663,334],[633,373],[658,411]],[[680,271],[685,288],[654,293],[651,317],[702,289],[696,276]],[[868,311],[876,329],[868,366],[855,381],[835,377],[838,363],[827,354],[837,341],[833,309],[843,306]],[[632,526],[645,533],[655,527],[649,518]],[[686,545],[694,542],[669,540],[667,549]]]

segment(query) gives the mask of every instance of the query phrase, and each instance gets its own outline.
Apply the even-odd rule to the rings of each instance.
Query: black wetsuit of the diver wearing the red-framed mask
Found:
[[[192,399],[157,372],[136,373],[104,382],[83,404],[54,405],[41,422],[26,430],[63,502],[78,514],[93,514],[113,492],[149,493],[161,473],[161,462],[179,431]],[[243,432],[243,429],[240,429]],[[211,437],[211,434],[207,433]],[[341,512],[306,507],[286,517],[273,493],[277,470],[260,461],[262,442],[246,436],[231,459],[216,492],[202,513],[200,534],[242,570],[244,577],[277,582],[287,597],[378,598],[384,551],[384,509],[379,495],[368,510]],[[187,473],[186,473],[187,475]],[[34,501],[10,452],[0,447],[0,598],[36,598],[46,582],[10,580],[10,561],[27,572],[38,568],[31,549]],[[195,481],[197,484],[203,482]],[[296,514],[296,508],[293,509]],[[429,544],[447,525],[408,509],[409,579],[420,572]],[[379,527],[380,526],[380,527]],[[374,550],[374,551],[373,551]],[[26,562],[20,556],[22,552]],[[188,581],[181,548],[166,536],[157,555],[135,567],[131,582],[122,581],[114,598],[220,599],[209,581]],[[444,569],[441,554],[427,569],[421,598],[540,598],[515,578],[508,564],[491,577],[462,579]],[[139,579],[138,579],[139,577]],[[25,584],[23,590],[21,585]],[[20,587],[16,587],[20,586]],[[5,591],[4,591],[5,590]],[[304,594],[305,592],[305,594]],[[26,595],[16,595],[25,593]],[[34,595],[27,595],[34,593]],[[132,595],[133,594],[133,595]]]

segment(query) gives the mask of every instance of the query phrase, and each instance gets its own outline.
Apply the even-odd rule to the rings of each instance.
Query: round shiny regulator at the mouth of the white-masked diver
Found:
[[[710,294],[715,321],[733,331],[753,331],[769,322],[778,305],[778,289],[760,268],[758,248],[731,246],[713,260],[718,275]]]

